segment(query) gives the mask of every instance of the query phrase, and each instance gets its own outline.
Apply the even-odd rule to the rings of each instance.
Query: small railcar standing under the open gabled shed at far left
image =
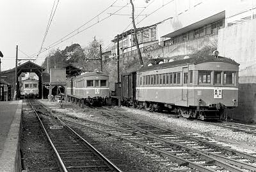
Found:
[[[35,78],[28,78],[23,80],[20,88],[20,98],[38,98],[38,80]]]

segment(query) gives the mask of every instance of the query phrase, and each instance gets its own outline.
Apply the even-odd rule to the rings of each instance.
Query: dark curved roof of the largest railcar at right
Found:
[[[144,68],[141,68],[138,71],[139,72],[151,71],[151,70],[155,70],[155,69],[165,69],[165,68],[172,68],[175,66],[183,66],[183,65],[187,65],[187,64],[200,64],[200,63],[204,63],[204,62],[227,62],[227,63],[231,63],[231,64],[235,64],[235,65],[239,66],[239,64],[236,61],[234,61],[232,59],[228,59],[227,57],[218,56],[218,58],[216,58],[213,55],[204,55],[204,56],[198,56],[198,57],[190,57],[188,59],[182,59],[182,60],[177,60],[177,61],[173,61],[173,62],[166,62],[163,64],[156,64],[153,66],[146,66]]]

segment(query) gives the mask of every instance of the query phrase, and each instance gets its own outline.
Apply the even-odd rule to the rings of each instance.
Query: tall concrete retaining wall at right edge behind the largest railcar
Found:
[[[238,107],[229,117],[243,122],[256,122],[256,20],[220,29],[218,51],[239,66]]]

